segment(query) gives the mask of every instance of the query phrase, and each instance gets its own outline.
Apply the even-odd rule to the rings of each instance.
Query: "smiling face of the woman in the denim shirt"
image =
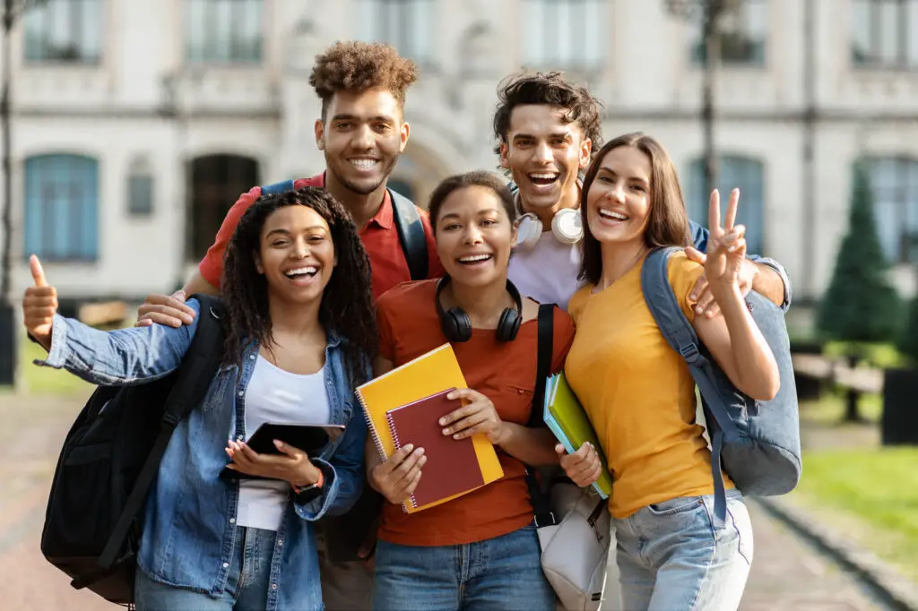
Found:
[[[285,206],[264,221],[255,266],[268,294],[297,304],[321,299],[335,266],[329,224],[308,206]]]

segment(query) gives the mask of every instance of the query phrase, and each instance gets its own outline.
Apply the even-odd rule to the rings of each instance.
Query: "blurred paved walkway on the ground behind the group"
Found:
[[[82,401],[0,394],[0,610],[115,609],[74,591],[39,551],[48,486],[61,442]],[[845,572],[773,520],[750,511],[756,555],[742,611],[881,609]]]

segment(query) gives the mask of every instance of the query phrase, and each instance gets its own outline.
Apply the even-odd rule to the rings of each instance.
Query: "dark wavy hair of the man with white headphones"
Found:
[[[576,122],[584,136],[592,140],[592,150],[602,146],[601,104],[586,87],[569,83],[561,72],[517,72],[498,85],[498,109],[494,113],[496,154],[500,153],[501,144],[509,144],[507,135],[513,109],[528,104],[564,108],[565,123]]]

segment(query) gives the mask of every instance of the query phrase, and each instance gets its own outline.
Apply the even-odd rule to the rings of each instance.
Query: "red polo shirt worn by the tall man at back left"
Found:
[[[318,174],[312,178],[300,178],[294,182],[294,188],[305,186],[325,188],[325,174]],[[229,208],[223,224],[217,232],[217,239],[207,250],[207,255],[198,264],[197,269],[208,283],[219,288],[220,277],[223,275],[223,255],[226,253],[229,239],[239,225],[239,221],[249,206],[261,196],[262,187],[252,187],[248,193],[241,194],[236,203]],[[420,220],[424,224],[424,234],[427,237],[428,278],[439,278],[443,274],[440,258],[437,256],[436,243],[433,239],[431,218],[426,210],[418,208]],[[399,283],[411,280],[408,261],[398,239],[398,229],[393,216],[392,201],[388,191],[383,197],[383,205],[375,217],[370,219],[360,231],[360,239],[364,242],[364,249],[370,258],[370,275],[373,285],[373,296],[378,297]]]

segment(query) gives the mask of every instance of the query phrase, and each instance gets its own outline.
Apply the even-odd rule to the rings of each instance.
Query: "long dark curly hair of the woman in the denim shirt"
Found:
[[[261,250],[265,220],[285,206],[312,208],[329,224],[338,264],[322,294],[319,322],[326,331],[333,331],[341,338],[351,381],[354,385],[362,384],[366,382],[378,342],[370,292],[370,260],[351,215],[333,196],[314,187],[262,195],[242,215],[229,240],[220,282],[226,310],[224,359],[230,365],[240,364],[243,348],[250,339],[257,339],[268,349],[274,344],[268,283],[255,267],[254,253]]]

